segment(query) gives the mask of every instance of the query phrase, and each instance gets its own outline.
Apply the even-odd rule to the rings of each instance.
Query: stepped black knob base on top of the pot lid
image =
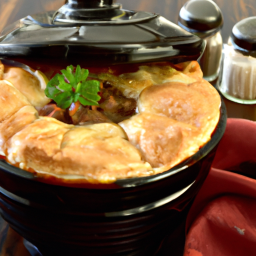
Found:
[[[122,15],[121,4],[113,0],[66,0],[52,17],[52,23],[83,23],[86,20],[109,20]]]

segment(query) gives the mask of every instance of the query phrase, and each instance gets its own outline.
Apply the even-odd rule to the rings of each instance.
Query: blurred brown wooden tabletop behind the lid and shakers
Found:
[[[116,0],[125,9],[157,12],[177,23],[178,12],[187,0]],[[256,16],[256,0],[214,0],[220,7],[224,24],[221,30],[226,42],[232,26],[239,20]],[[57,10],[64,0],[0,0],[0,31],[8,24],[28,15]]]

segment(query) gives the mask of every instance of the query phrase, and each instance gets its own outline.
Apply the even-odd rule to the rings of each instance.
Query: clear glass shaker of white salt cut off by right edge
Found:
[[[256,120],[256,16],[237,22],[223,44],[217,89],[228,117]]]

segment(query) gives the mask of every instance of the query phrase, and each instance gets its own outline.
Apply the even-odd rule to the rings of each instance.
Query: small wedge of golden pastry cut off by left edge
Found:
[[[26,97],[8,81],[0,80],[0,122],[25,105],[30,105]]]

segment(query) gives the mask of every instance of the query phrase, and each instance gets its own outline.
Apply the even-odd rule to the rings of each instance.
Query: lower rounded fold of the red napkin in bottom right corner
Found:
[[[209,202],[187,234],[184,256],[256,255],[256,200],[221,196]]]

